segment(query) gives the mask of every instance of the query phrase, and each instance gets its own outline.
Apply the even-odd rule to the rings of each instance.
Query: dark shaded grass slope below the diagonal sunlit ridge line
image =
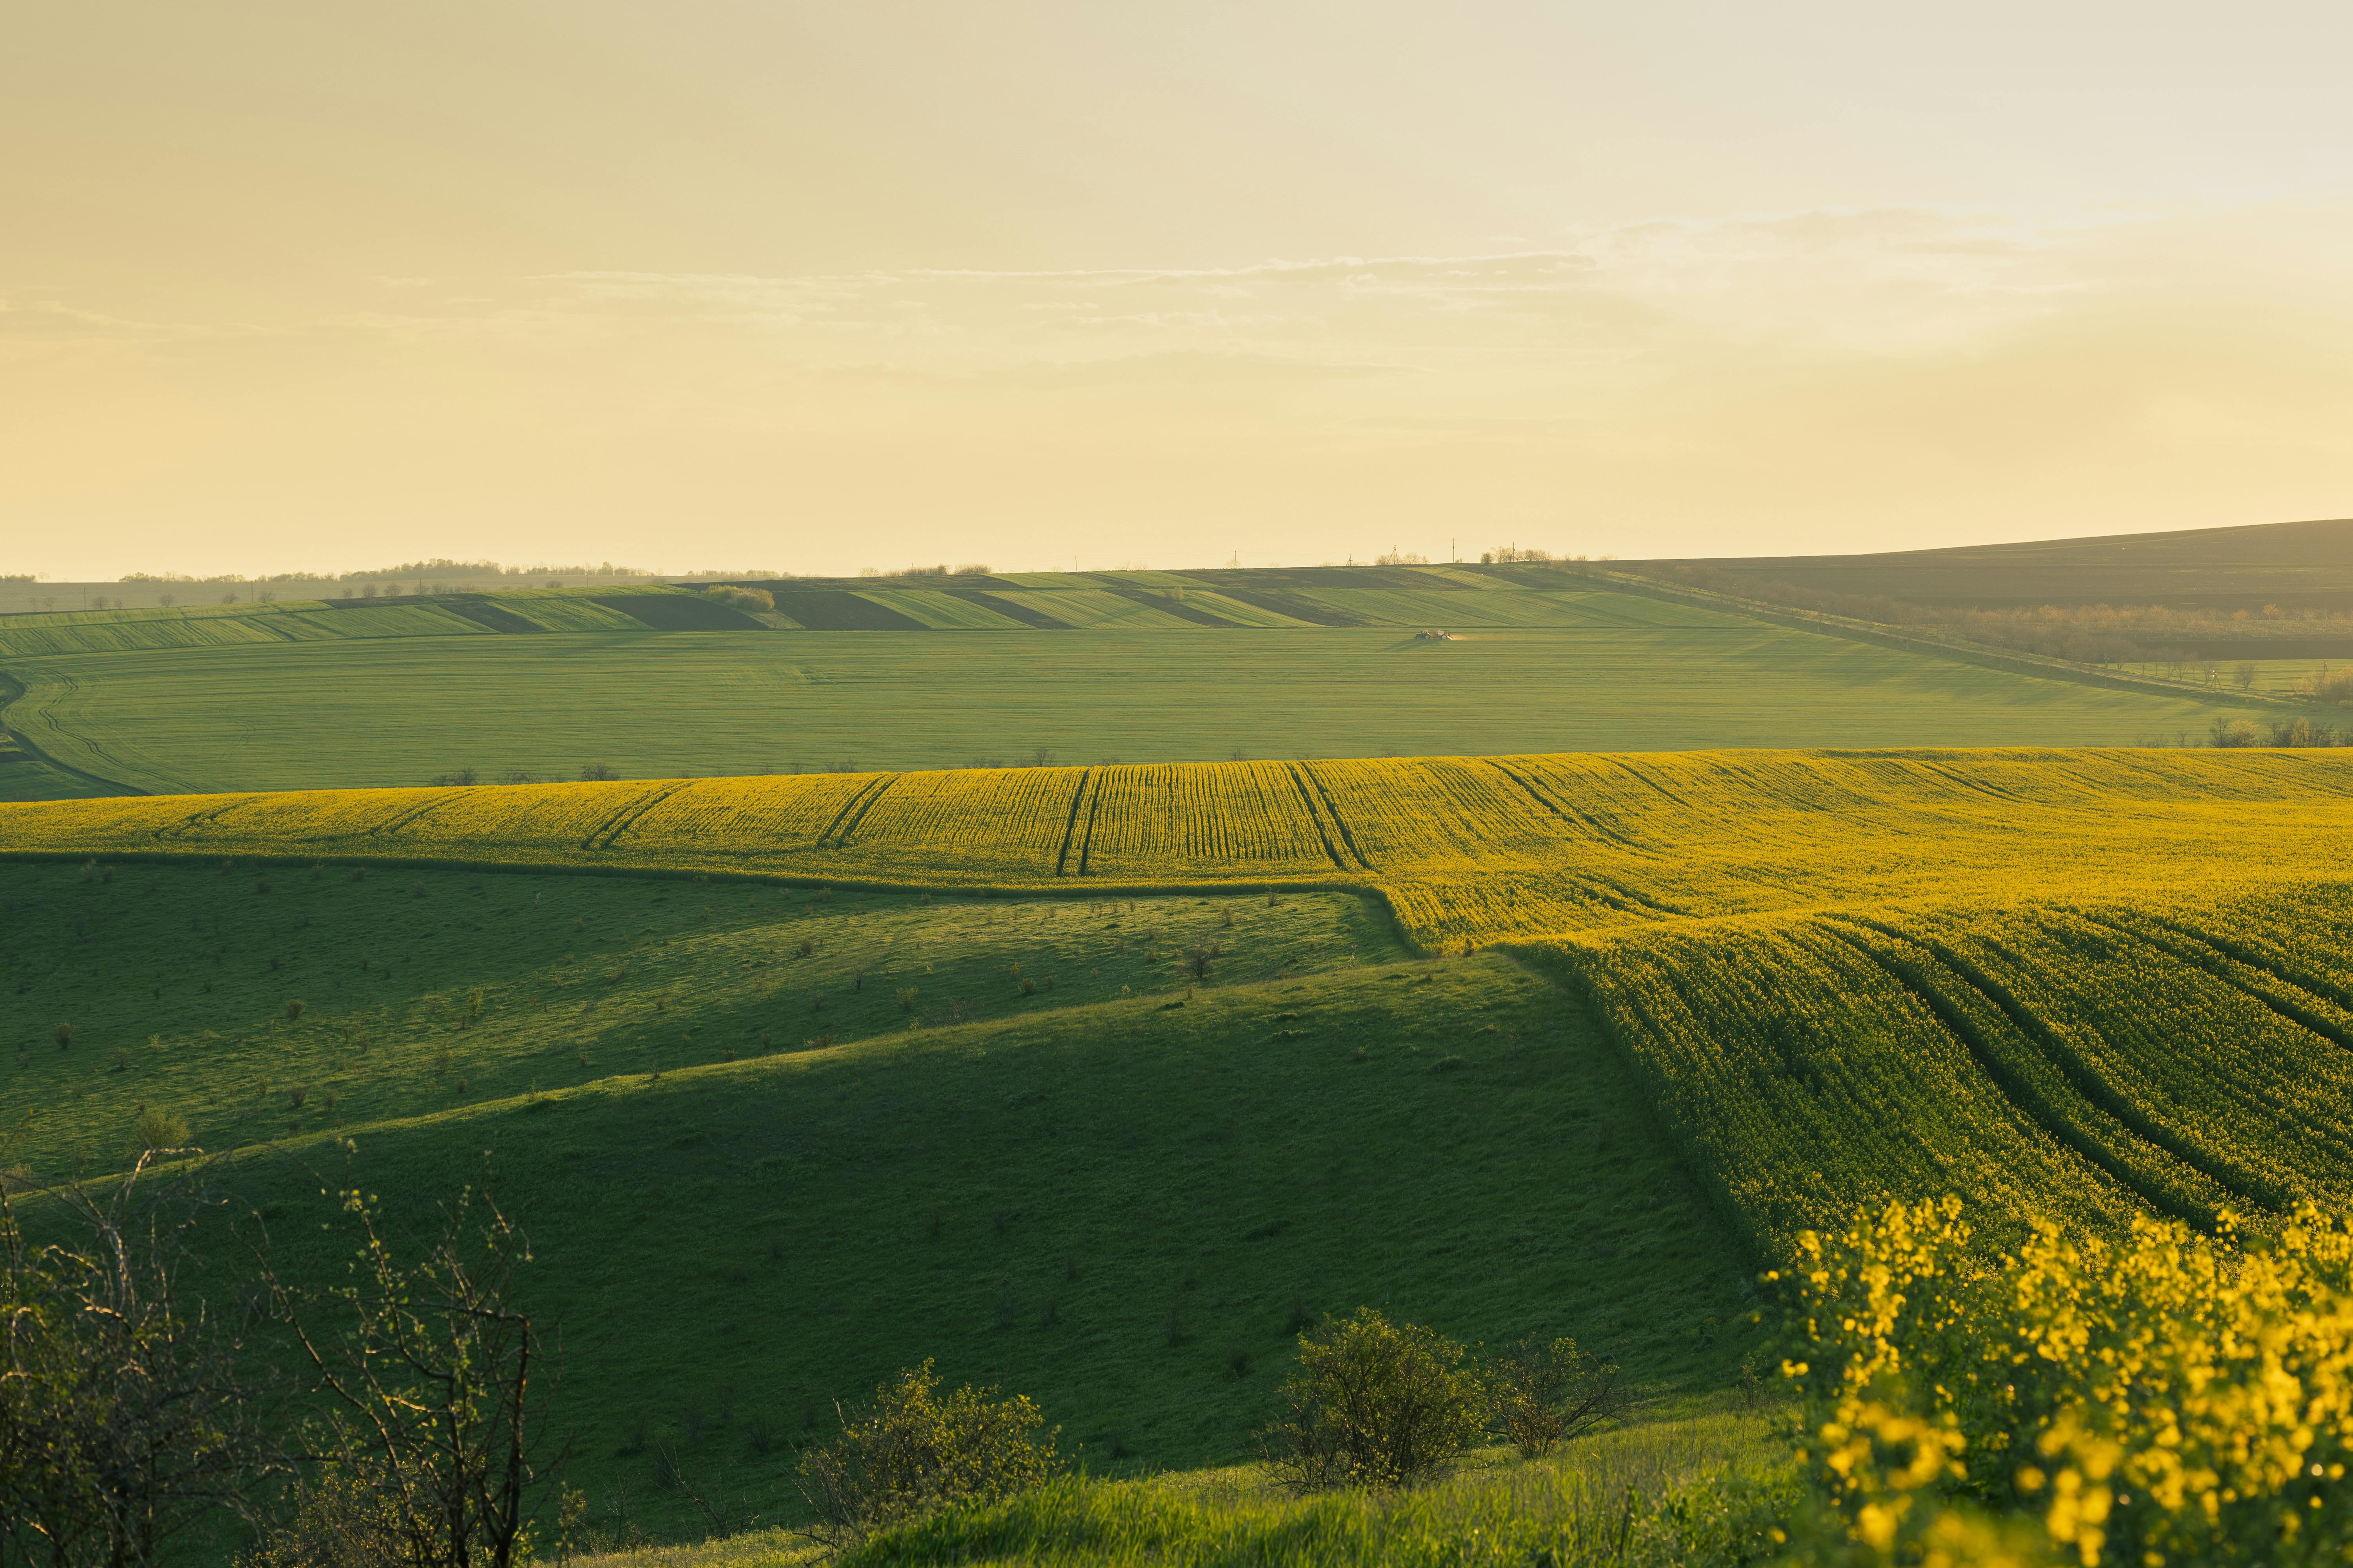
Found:
[[[1125,1474],[1249,1458],[1320,1312],[1572,1333],[1654,1396],[1720,1387],[1753,1333],[1751,1265],[1612,1051],[1494,957],[612,1077],[233,1180],[299,1279],[348,1255],[332,1192],[398,1229],[492,1180],[572,1483],[656,1533],[689,1490],[788,1516],[793,1443],[925,1356]]]

